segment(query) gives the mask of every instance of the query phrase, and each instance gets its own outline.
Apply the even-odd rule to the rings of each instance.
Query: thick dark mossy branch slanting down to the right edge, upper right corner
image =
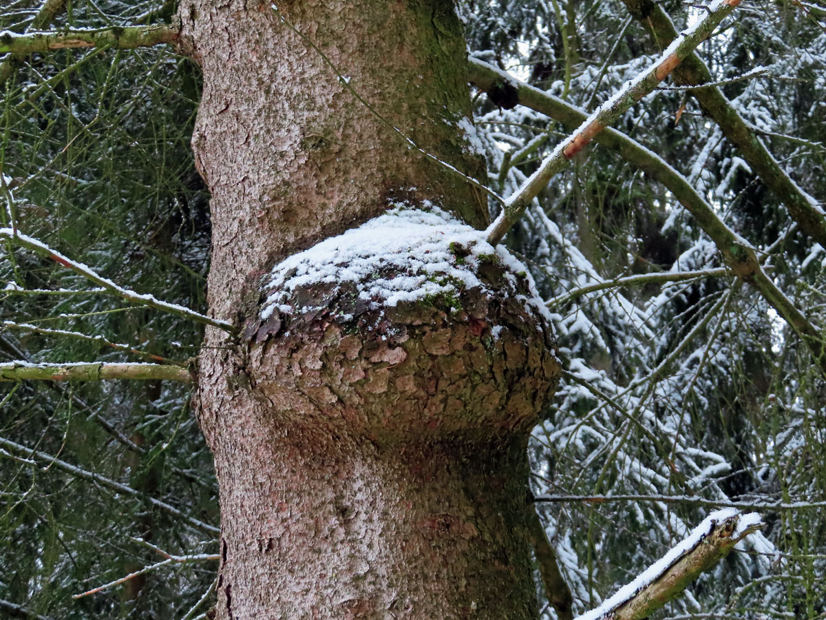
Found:
[[[623,2],[629,12],[648,29],[657,44],[668,45],[679,36],[662,5],[645,2],[643,14],[638,7],[639,2]],[[823,209],[781,169],[766,145],[754,135],[720,89],[709,84],[712,82],[711,72],[700,60],[700,56],[692,53],[683,60],[674,70],[674,78],[683,86],[702,85],[702,88],[691,90],[700,107],[714,119],[726,139],[743,154],[743,159],[754,173],[786,205],[789,215],[800,225],[800,230],[821,246],[826,246],[826,218]]]

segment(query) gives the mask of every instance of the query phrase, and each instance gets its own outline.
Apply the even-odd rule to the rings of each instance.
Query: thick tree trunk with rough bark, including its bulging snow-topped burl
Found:
[[[487,224],[479,193],[392,129],[482,178],[452,2],[180,17],[204,74],[211,312],[244,331],[207,331],[200,356],[218,618],[535,617],[525,447],[559,370],[548,319],[458,223]],[[368,220],[367,243],[331,238]]]

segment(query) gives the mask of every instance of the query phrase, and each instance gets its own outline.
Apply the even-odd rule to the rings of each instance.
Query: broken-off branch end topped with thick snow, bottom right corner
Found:
[[[739,541],[762,527],[757,513],[720,510],[600,607],[577,620],[643,620],[675,599],[700,573],[722,560]]]

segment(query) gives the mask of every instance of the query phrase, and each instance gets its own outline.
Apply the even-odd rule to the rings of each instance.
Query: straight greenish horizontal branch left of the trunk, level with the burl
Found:
[[[0,364],[2,381],[102,381],[106,379],[154,379],[192,383],[186,368],[169,364],[120,364],[116,362],[69,362],[67,364],[32,364],[24,361]]]

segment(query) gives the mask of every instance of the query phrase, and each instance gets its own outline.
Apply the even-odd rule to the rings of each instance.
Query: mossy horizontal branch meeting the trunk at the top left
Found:
[[[35,52],[87,47],[112,47],[120,50],[151,47],[178,41],[178,32],[178,27],[163,24],[100,30],[26,32],[23,35],[2,31],[0,32],[0,54],[25,56]]]

